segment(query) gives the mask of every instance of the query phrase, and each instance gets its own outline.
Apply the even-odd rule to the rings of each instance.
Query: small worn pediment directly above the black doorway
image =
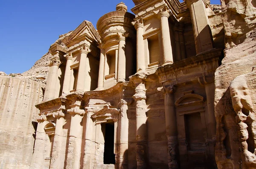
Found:
[[[109,106],[104,106],[103,109],[94,113],[91,117],[96,120],[96,123],[105,123],[113,120],[115,121],[118,120],[119,110],[110,108]]]

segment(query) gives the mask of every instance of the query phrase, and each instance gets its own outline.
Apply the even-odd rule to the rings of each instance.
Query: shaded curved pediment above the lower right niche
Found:
[[[202,103],[204,101],[204,97],[196,94],[188,94],[180,97],[176,102],[176,106],[187,106],[192,104]]]

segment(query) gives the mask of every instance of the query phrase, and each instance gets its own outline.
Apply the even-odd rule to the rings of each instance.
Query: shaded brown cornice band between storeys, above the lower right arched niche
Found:
[[[198,77],[214,76],[215,69],[218,68],[218,60],[221,56],[221,52],[222,49],[212,49],[194,57],[179,60],[172,65],[160,66],[156,71],[156,75],[160,83],[169,81],[169,83],[173,83],[174,85],[183,83],[184,80],[188,82],[198,80]],[[190,69],[197,69],[199,72],[196,71],[195,74],[192,72],[185,73]],[[188,76],[188,78],[184,76]],[[183,77],[183,80],[181,80],[181,77]]]

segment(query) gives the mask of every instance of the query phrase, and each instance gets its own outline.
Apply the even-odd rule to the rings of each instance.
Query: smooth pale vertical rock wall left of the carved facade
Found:
[[[0,168],[30,165],[38,110],[45,84],[30,78],[0,75]]]

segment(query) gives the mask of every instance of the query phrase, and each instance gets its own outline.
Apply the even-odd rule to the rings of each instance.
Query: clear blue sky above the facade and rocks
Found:
[[[83,20],[96,27],[103,14],[132,0],[0,0],[0,71],[22,73],[47,53],[58,35],[76,29]],[[220,4],[219,0],[211,0]]]

